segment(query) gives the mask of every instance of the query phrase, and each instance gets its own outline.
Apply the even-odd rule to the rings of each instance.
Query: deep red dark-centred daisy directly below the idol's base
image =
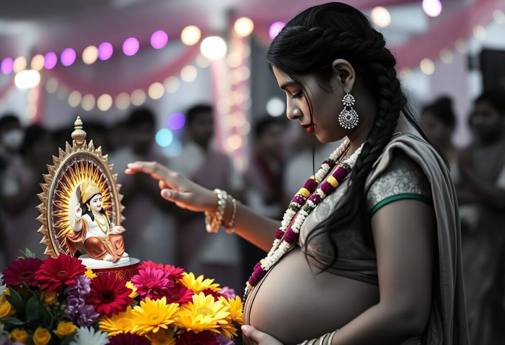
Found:
[[[93,305],[95,311],[100,315],[110,317],[112,313],[118,314],[126,310],[133,299],[128,296],[131,289],[126,286],[126,281],[117,279],[116,274],[100,274],[91,280],[89,293],[86,303]]]

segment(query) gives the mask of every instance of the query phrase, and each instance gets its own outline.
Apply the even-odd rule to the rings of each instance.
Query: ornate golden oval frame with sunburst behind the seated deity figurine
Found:
[[[102,148],[94,148],[93,141],[86,143],[86,132],[82,130],[80,117],[74,123],[72,132],[73,145],[66,143],[65,151],[59,149],[58,157],[53,156],[53,164],[47,165],[48,174],[43,175],[42,193],[37,194],[41,204],[37,206],[41,223],[38,232],[42,235],[41,244],[45,245],[45,255],[57,257],[60,253],[70,254],[66,235],[72,231],[72,212],[77,202],[79,185],[90,180],[102,190],[102,203],[107,216],[117,225],[124,220],[121,204],[123,195],[117,184],[117,174],[113,174],[113,165],[109,165],[107,155],[102,155]]]

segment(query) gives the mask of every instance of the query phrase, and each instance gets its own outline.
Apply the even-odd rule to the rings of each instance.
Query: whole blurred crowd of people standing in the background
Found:
[[[237,236],[208,234],[203,215],[165,201],[150,177],[125,175],[126,164],[158,161],[204,187],[225,189],[256,212],[280,220],[291,196],[335,143],[323,145],[301,127],[293,139],[285,118],[257,116],[248,168],[239,173],[228,155],[213,148],[213,107],[194,105],[185,116],[184,146],[172,158],[156,150],[156,114],[147,108],[134,109],[110,127],[86,121],[84,129],[95,147],[102,146],[109,154],[119,174],[128,253],[181,265],[241,291],[262,251]],[[505,324],[505,95],[486,92],[474,100],[465,124],[472,143],[459,149],[452,137],[457,119],[463,117],[467,116],[457,116],[451,99],[443,96],[423,107],[420,120],[450,166],[460,206],[472,342],[486,343],[482,339],[489,339]],[[24,247],[42,256],[42,237],[36,232],[40,225],[35,221],[38,184],[51,156],[70,141],[72,130],[48,130],[38,124],[23,127],[15,114],[0,117],[0,267]]]

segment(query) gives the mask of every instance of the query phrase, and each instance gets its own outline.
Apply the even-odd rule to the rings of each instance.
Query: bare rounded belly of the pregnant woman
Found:
[[[297,344],[342,327],[379,302],[375,285],[318,273],[295,247],[251,291],[244,324],[284,345]]]

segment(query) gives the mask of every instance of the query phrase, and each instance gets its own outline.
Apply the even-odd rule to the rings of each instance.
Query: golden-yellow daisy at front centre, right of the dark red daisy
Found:
[[[144,335],[147,333],[157,333],[160,328],[167,329],[168,325],[176,320],[176,313],[179,311],[179,304],[167,304],[167,298],[151,300],[146,298],[140,302],[140,306],[134,306],[132,310],[133,333]]]

